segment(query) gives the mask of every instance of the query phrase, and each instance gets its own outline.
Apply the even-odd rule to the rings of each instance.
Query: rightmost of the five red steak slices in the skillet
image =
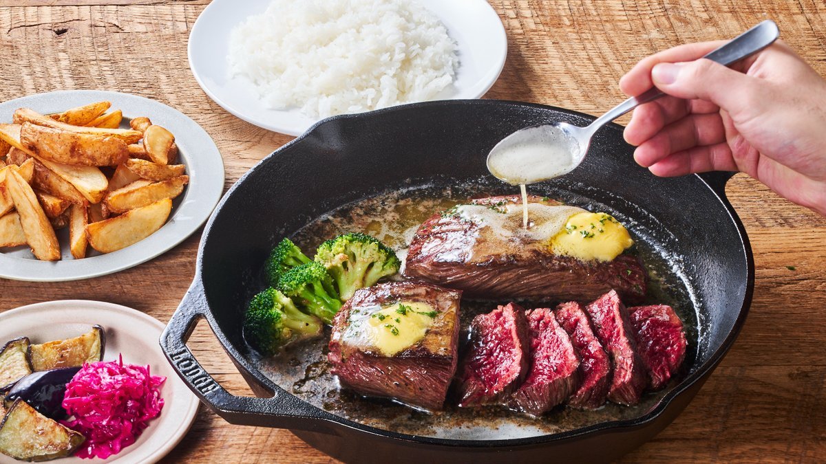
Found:
[[[665,386],[686,358],[686,334],[671,306],[629,308],[639,355],[648,370],[648,387]]]

